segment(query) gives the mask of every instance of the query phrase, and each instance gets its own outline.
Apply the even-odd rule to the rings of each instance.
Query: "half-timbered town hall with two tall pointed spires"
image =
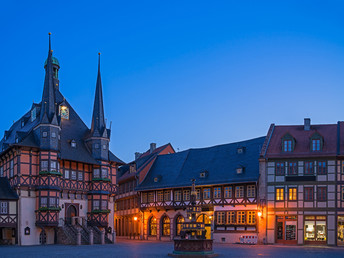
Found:
[[[44,68],[41,102],[0,141],[0,174],[19,195],[15,238],[21,245],[57,243],[65,224],[110,232],[117,167],[124,164],[109,150],[100,63],[91,128],[60,91],[60,64],[52,56],[50,36]]]

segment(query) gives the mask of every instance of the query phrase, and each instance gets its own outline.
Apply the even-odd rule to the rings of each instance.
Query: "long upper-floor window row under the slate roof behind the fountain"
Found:
[[[226,186],[226,187],[214,187],[212,194],[211,188],[203,188],[203,200],[211,199],[211,195],[213,199],[230,199],[233,198],[233,189],[235,189],[235,198],[244,198],[245,191],[244,186]],[[174,190],[173,191],[173,201],[190,201],[190,190]],[[223,193],[223,197],[222,197]],[[255,185],[248,185],[246,188],[246,197],[247,198],[255,198],[256,197],[256,186]],[[201,189],[196,189],[196,200],[201,199]],[[162,201],[171,201],[171,191],[157,191],[156,192],[156,199],[155,199],[155,192],[148,192],[142,193],[142,203],[151,203],[156,200],[157,202]]]

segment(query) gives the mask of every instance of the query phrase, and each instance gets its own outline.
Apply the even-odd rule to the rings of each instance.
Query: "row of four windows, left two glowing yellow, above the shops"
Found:
[[[327,201],[327,187],[326,186],[317,187],[316,198],[317,198],[317,201]],[[285,189],[282,187],[281,188],[277,187],[276,188],[276,201],[284,201],[284,200],[285,200]],[[297,187],[289,187],[288,188],[288,201],[297,201],[297,200],[298,200]],[[314,187],[303,188],[303,200],[314,201]]]

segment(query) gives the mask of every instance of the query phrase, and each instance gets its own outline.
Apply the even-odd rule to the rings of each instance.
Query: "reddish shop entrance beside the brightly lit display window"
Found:
[[[276,243],[297,244],[296,216],[276,216]]]

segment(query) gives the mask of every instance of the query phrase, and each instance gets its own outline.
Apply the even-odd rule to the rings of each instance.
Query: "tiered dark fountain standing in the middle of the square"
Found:
[[[192,179],[191,201],[187,207],[189,221],[182,224],[180,237],[174,238],[172,257],[215,257],[213,239],[206,239],[206,230],[203,222],[197,222],[197,215],[202,212],[196,205],[195,179]]]

